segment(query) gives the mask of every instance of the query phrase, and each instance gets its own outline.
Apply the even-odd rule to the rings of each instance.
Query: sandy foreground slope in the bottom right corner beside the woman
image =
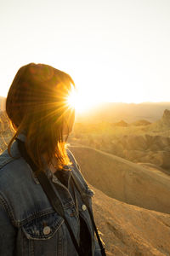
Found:
[[[170,255],[169,214],[116,201],[98,189],[94,192],[94,216],[108,256]]]

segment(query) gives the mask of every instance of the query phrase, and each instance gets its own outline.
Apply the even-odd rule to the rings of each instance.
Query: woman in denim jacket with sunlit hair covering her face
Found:
[[[0,255],[105,255],[92,213],[93,191],[66,139],[75,112],[71,77],[54,67],[20,67],[8,90],[14,128],[0,156]]]

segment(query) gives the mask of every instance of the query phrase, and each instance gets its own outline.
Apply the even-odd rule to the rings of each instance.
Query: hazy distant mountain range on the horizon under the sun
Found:
[[[77,113],[76,121],[99,123],[101,121],[115,123],[122,119],[127,122],[135,122],[145,119],[154,122],[161,119],[165,109],[170,110],[170,102],[144,102],[135,103],[103,103],[99,107],[92,108],[86,113]]]

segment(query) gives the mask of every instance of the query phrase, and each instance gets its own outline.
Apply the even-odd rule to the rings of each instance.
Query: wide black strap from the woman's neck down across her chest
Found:
[[[16,138],[16,141],[18,143],[18,148],[19,148],[21,156],[26,160],[27,164],[29,166],[31,166],[32,171],[36,172],[37,166],[31,160],[30,156],[27,154],[25,143],[21,142],[18,138]],[[45,192],[45,194],[47,195],[48,200],[50,201],[52,207],[54,208],[54,211],[58,212],[59,215],[62,218],[64,218],[66,227],[70,233],[71,240],[74,244],[74,247],[77,250],[78,255],[85,256],[85,255],[83,255],[81,248],[78,246],[77,240],[73,234],[73,231],[71,230],[71,226],[68,223],[67,219],[65,218],[62,203],[59,201],[58,196],[55,194],[54,188],[52,187],[51,183],[49,182],[48,177],[46,176],[46,174],[44,172],[37,172],[37,178],[38,178],[39,183],[42,185],[42,189]]]

